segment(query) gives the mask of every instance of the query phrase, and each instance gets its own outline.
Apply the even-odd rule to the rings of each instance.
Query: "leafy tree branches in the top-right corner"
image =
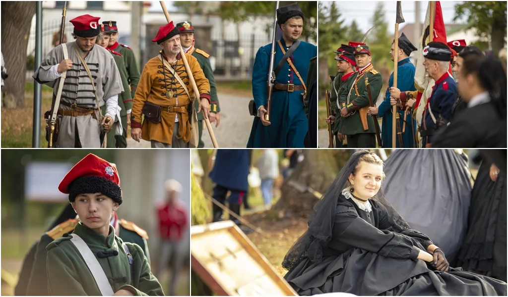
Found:
[[[477,36],[490,37],[494,53],[506,44],[506,1],[466,1],[457,4],[454,20],[464,17],[476,30]]]

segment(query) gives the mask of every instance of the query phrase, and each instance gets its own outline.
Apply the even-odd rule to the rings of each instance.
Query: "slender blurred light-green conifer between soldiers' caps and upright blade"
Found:
[[[390,48],[392,41],[389,39],[389,27],[388,22],[385,20],[383,2],[377,3],[370,22],[375,28],[370,32],[365,43],[369,46],[372,54],[372,65],[378,68],[384,61],[391,60]]]

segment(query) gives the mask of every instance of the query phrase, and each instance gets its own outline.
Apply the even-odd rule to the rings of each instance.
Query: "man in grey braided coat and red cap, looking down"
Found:
[[[76,40],[65,44],[68,59],[64,58],[63,47],[57,46],[33,76],[38,83],[52,87],[56,97],[62,72],[67,71],[58,108],[57,147],[101,147],[101,126],[106,130],[113,126],[118,94],[122,92],[121,80],[111,54],[96,46],[98,22],[98,17],[90,15],[72,19]],[[80,57],[89,68],[92,81]],[[102,106],[106,106],[106,112],[101,113],[104,116],[101,122]]]

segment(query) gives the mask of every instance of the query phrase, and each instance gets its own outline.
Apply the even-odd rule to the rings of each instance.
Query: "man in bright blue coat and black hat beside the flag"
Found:
[[[397,63],[397,88],[401,92],[415,91],[415,71],[416,67],[409,61],[411,52],[417,48],[407,39],[406,35],[402,33],[399,38],[398,46],[398,63]],[[395,43],[392,43],[390,50],[390,57],[392,61],[395,54]],[[367,114],[378,115],[383,119],[381,128],[381,140],[383,147],[392,147],[392,105],[390,104],[390,88],[393,87],[393,72],[388,81],[388,88],[385,92],[385,100],[379,104],[379,107],[369,107]],[[416,121],[412,119],[411,113],[405,113],[405,104],[401,102],[397,104],[397,112],[399,113],[400,132],[402,133],[402,146],[400,145],[399,137],[395,137],[396,147],[412,148],[416,147]],[[405,120],[405,125],[404,125]],[[397,131],[398,132],[398,131]]]

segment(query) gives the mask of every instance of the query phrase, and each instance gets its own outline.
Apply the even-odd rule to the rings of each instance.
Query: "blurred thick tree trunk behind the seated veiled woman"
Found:
[[[279,216],[307,217],[319,200],[312,193],[299,192],[288,181],[295,181],[324,194],[339,172],[334,150],[304,150],[303,155],[305,157],[303,161],[282,183],[281,197],[274,205],[274,209],[279,211]]]

